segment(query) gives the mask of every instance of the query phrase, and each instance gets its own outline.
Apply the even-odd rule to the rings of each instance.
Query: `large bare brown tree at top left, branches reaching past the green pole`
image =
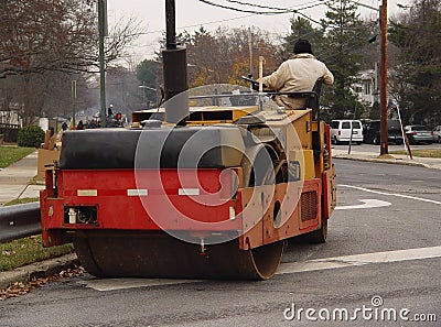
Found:
[[[139,32],[133,19],[120,21],[110,31],[105,47],[107,67],[126,55]],[[97,73],[98,66],[96,1],[1,2],[0,100],[2,107],[19,103],[25,124],[44,113],[66,112],[71,81],[86,87],[87,76],[80,74]]]

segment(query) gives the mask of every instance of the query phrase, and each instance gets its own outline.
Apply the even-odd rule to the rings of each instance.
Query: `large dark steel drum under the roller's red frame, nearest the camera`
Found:
[[[284,242],[240,250],[238,239],[201,246],[165,232],[87,231],[74,236],[87,272],[100,277],[267,280],[276,272]]]

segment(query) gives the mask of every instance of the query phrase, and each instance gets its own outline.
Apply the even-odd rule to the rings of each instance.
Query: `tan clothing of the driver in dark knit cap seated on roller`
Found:
[[[262,77],[261,81],[268,88],[280,92],[311,91],[315,81],[321,77],[323,77],[324,84],[334,83],[334,76],[324,63],[318,61],[312,54],[302,53],[292,55],[275,73]],[[306,102],[305,99],[294,99],[288,96],[277,96],[275,101],[278,106],[290,109],[304,109]]]

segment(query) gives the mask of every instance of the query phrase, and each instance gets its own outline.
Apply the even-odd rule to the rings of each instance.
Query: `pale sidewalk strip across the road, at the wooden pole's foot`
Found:
[[[413,156],[413,159],[410,159],[407,155],[400,155],[400,154],[392,154],[389,155],[388,157],[379,157],[379,154],[374,152],[351,151],[351,154],[347,154],[347,149],[345,150],[332,149],[332,156],[336,159],[380,162],[388,164],[401,164],[401,165],[411,165],[411,166],[421,166],[427,168],[441,170],[441,157]]]

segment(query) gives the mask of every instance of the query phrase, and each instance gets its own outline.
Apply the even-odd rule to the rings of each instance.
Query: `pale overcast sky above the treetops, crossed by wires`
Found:
[[[240,7],[237,3],[228,2],[228,0],[208,0],[209,2],[225,4],[235,8]],[[259,6],[290,8],[300,10],[305,15],[313,20],[324,18],[326,6],[321,4],[325,0],[236,0],[239,2],[258,3]],[[161,37],[161,31],[165,30],[165,0],[107,0],[108,20],[111,25],[115,21],[121,18],[135,17],[141,22],[146,34],[140,37],[137,46],[132,48],[133,58],[136,61],[151,57],[158,50],[158,40]],[[377,0],[361,0],[359,2],[378,8],[381,1]],[[292,13],[282,13],[275,15],[261,15],[245,12],[236,12],[223,8],[216,8],[198,0],[175,0],[176,6],[176,29],[178,32],[193,31],[200,26],[206,30],[215,30],[223,26],[259,26],[262,30],[278,35],[284,35],[290,30],[290,18]],[[412,0],[388,0],[389,17],[399,13],[397,3],[410,4]],[[359,7],[362,18],[378,18],[378,12]]]

